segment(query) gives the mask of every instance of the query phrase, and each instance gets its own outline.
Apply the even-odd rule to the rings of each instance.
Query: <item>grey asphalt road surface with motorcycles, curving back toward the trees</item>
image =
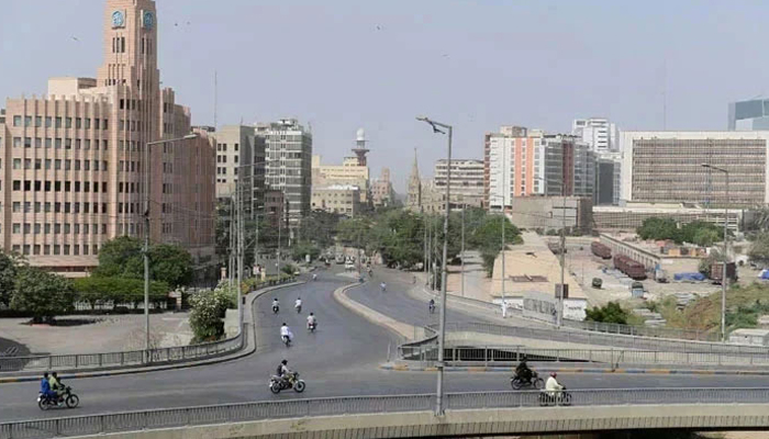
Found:
[[[317,281],[277,290],[255,302],[257,352],[252,356],[209,367],[70,380],[66,383],[73,386],[81,402],[76,409],[41,412],[35,403],[38,383],[1,384],[0,421],[254,401],[434,392],[433,372],[395,372],[377,368],[386,360],[388,345],[394,349],[395,336],[334,301],[333,291],[349,283],[349,279],[336,277],[331,271],[319,274]],[[374,282],[355,289],[360,291],[354,290],[350,295],[376,305],[380,312],[393,313],[393,317],[403,322],[424,324],[426,318],[435,319],[428,315],[426,303],[413,301],[403,293],[411,286],[411,275],[403,275],[404,283],[398,282],[399,275],[398,272],[378,270]],[[378,277],[383,277],[388,283],[388,291],[383,294],[379,291]],[[298,296],[302,297],[302,314],[293,311],[293,301]],[[278,297],[281,303],[278,315],[270,309],[272,297]],[[317,316],[319,326],[314,334],[305,330],[310,312]],[[465,316],[457,312],[448,317],[454,320]],[[283,322],[296,336],[288,348],[279,336]],[[304,393],[288,391],[272,395],[269,392],[269,376],[283,358],[307,381]],[[559,374],[559,380],[570,389],[769,386],[769,376],[738,375],[564,373]],[[447,373],[446,390],[510,390],[509,373],[450,372]]]

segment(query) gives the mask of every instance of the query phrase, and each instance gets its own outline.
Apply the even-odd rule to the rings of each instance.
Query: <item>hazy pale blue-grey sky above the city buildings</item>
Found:
[[[44,93],[49,76],[96,76],[103,5],[3,0],[0,98]],[[724,130],[728,101],[769,92],[769,2],[760,0],[157,7],[161,80],[194,124],[213,123],[218,70],[220,125],[299,117],[324,161],[348,155],[364,127],[372,172],[390,167],[399,191],[414,147],[427,175],[446,154],[417,114],[454,124],[455,157],[482,158],[483,134],[502,124],[568,132],[572,119],[599,115],[661,130],[665,83],[669,130]]]

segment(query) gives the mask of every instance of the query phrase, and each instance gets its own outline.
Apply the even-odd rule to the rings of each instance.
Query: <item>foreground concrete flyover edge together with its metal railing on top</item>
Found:
[[[291,399],[41,419],[0,425],[0,439],[409,438],[611,430],[769,429],[769,387],[571,392],[572,406],[540,406],[539,392]]]

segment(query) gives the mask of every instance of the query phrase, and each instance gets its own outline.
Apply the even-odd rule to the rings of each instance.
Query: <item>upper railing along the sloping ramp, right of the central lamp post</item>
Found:
[[[447,323],[447,331],[480,333],[489,335],[544,339],[583,345],[611,346],[626,349],[672,352],[722,352],[766,354],[766,347],[728,345],[705,341],[684,341],[662,338],[631,337],[571,329],[543,329],[522,326],[506,326],[482,322]]]

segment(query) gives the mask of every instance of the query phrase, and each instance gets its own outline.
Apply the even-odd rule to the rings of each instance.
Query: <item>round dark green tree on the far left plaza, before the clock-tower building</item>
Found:
[[[51,322],[75,307],[75,290],[68,279],[24,267],[19,270],[11,297],[11,308],[32,314],[33,322]]]

